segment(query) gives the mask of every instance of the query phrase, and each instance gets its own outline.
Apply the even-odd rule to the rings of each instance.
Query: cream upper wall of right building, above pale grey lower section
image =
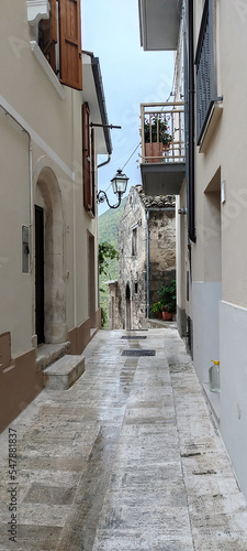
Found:
[[[215,173],[220,170],[218,191],[225,181],[226,202],[217,201],[216,208],[221,206],[222,225],[222,293],[223,299],[243,306],[247,306],[247,257],[239,253],[245,249],[246,242],[246,125],[245,105],[247,73],[242,71],[246,64],[246,25],[244,13],[234,2],[227,7],[216,2],[217,34],[216,50],[217,65],[217,95],[223,95],[223,110],[212,138],[204,153],[195,155],[195,184],[197,184],[197,230],[200,225],[204,231],[211,234],[210,248],[212,263],[218,263],[218,247],[212,247],[215,235],[214,205],[211,205],[211,215],[206,212],[204,192],[210,185]],[[198,25],[200,18],[197,19]],[[199,31],[197,28],[195,35]],[[217,231],[217,230],[216,230]],[[200,233],[198,246],[194,249],[194,279],[218,281],[220,269],[209,274],[207,268],[202,262]]]

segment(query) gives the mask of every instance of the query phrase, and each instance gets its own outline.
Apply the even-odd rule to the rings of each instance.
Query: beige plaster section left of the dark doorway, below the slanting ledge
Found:
[[[2,112],[0,114],[0,334],[5,331],[14,332],[12,344],[16,353],[24,352],[32,346],[32,317],[30,315],[30,312],[32,313],[32,281],[29,274],[22,273],[22,225],[30,223],[29,139]],[[24,301],[23,298],[25,298]],[[22,311],[22,316],[20,316],[20,311]]]

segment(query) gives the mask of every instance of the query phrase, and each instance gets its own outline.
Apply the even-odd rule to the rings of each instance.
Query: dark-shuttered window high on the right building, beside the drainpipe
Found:
[[[201,142],[214,101],[215,63],[214,63],[214,24],[213,0],[205,0],[195,55],[197,66],[197,143]]]

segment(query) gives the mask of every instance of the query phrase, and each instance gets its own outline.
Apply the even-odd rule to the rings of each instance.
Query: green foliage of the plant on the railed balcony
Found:
[[[165,115],[153,115],[145,118],[144,121],[145,143],[160,142],[169,145],[172,142],[172,136],[169,133],[169,126]]]

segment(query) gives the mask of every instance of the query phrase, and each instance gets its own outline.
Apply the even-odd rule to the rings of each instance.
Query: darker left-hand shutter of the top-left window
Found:
[[[42,19],[38,24],[38,46],[53,71],[56,72],[55,44],[57,43],[56,0],[49,0],[49,19]]]

